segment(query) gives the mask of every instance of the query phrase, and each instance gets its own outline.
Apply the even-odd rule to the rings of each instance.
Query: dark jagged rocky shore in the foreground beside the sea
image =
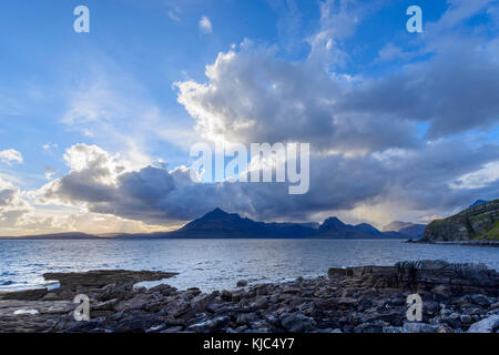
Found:
[[[173,273],[95,271],[45,274],[52,291],[0,294],[0,332],[54,333],[497,333],[499,273],[442,261],[330,268],[327,276],[202,293],[167,284],[136,287]],[[422,298],[421,322],[406,297]],[[88,322],[73,317],[90,297]]]

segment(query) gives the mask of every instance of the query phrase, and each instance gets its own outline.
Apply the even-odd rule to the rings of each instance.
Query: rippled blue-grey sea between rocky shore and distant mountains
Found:
[[[327,274],[332,266],[393,265],[440,258],[499,270],[499,248],[407,244],[403,241],[170,240],[0,241],[0,291],[43,285],[45,272],[98,268],[173,271],[177,288],[234,288]]]

